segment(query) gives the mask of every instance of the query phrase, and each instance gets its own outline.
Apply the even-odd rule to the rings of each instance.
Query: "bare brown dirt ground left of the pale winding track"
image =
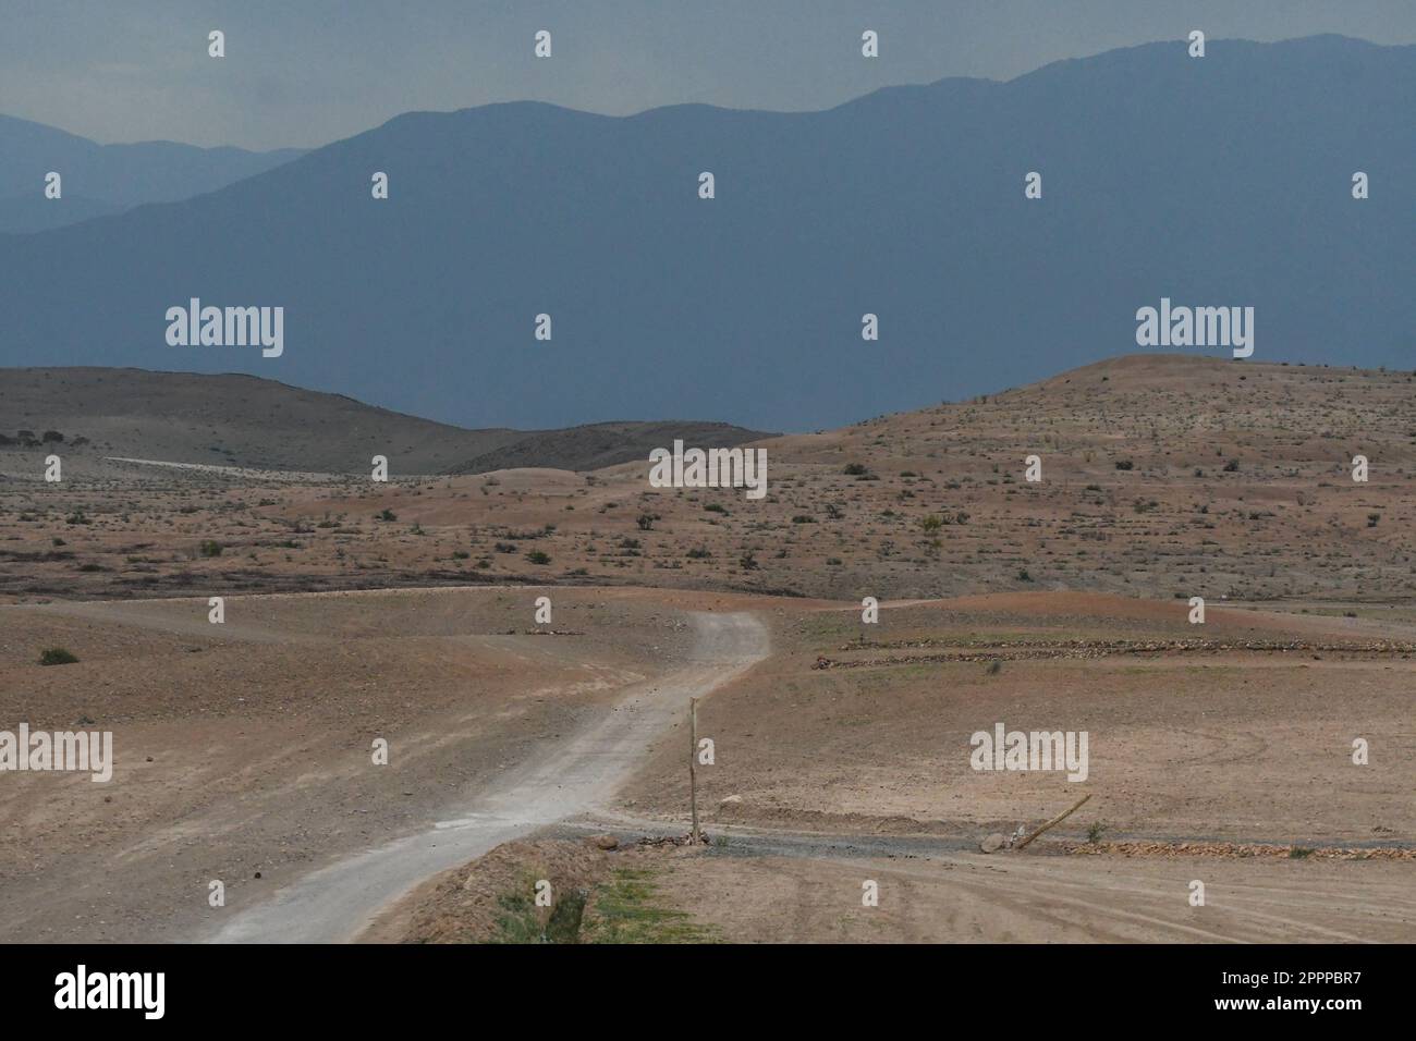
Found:
[[[0,608],[4,718],[92,719],[116,759],[106,785],[0,775],[0,935],[187,936],[211,880],[231,914],[421,833],[691,649],[683,613],[629,591],[552,591],[554,627],[583,636],[521,635],[538,592],[228,598],[225,626],[204,601]],[[34,664],[58,642],[78,664]]]

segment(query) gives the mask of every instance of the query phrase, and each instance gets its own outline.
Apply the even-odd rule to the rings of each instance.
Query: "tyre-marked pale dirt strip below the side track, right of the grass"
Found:
[[[1410,943],[1409,864],[957,854],[666,858],[660,892],[738,943]],[[879,905],[862,906],[862,882]],[[1205,884],[1205,906],[1189,884]]]

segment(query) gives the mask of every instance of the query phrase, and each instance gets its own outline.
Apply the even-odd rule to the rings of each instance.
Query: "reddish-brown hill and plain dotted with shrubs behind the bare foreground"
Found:
[[[333,418],[297,426],[293,402],[278,421],[303,443],[348,440]],[[45,486],[35,470],[0,497],[0,552],[16,565],[0,592],[573,582],[857,601],[1070,589],[1181,606],[1416,595],[1406,371],[1134,355],[758,446],[762,500],[653,489],[644,446],[593,473],[418,479],[395,465],[387,484],[123,465]],[[418,450],[412,438],[404,450]],[[429,466],[447,459],[436,450]],[[1029,456],[1041,482],[1027,480]],[[1352,480],[1355,456],[1368,482]]]

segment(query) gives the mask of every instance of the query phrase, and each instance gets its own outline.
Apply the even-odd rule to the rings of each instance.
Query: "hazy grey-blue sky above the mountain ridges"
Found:
[[[227,57],[207,57],[207,33]],[[549,30],[554,57],[532,57]],[[881,57],[860,54],[865,28]],[[99,142],[324,144],[413,109],[818,109],[1192,28],[1416,42],[1413,0],[3,0],[0,113]]]

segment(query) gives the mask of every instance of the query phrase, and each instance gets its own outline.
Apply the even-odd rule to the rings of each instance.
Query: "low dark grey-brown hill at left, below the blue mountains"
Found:
[[[21,431],[34,436],[21,440]],[[0,370],[0,449],[40,442],[28,450],[42,456],[47,431],[64,435],[67,455],[361,476],[382,455],[395,477],[520,466],[595,470],[649,459],[650,449],[670,448],[674,438],[711,448],[772,436],[695,422],[467,431],[248,375]]]

